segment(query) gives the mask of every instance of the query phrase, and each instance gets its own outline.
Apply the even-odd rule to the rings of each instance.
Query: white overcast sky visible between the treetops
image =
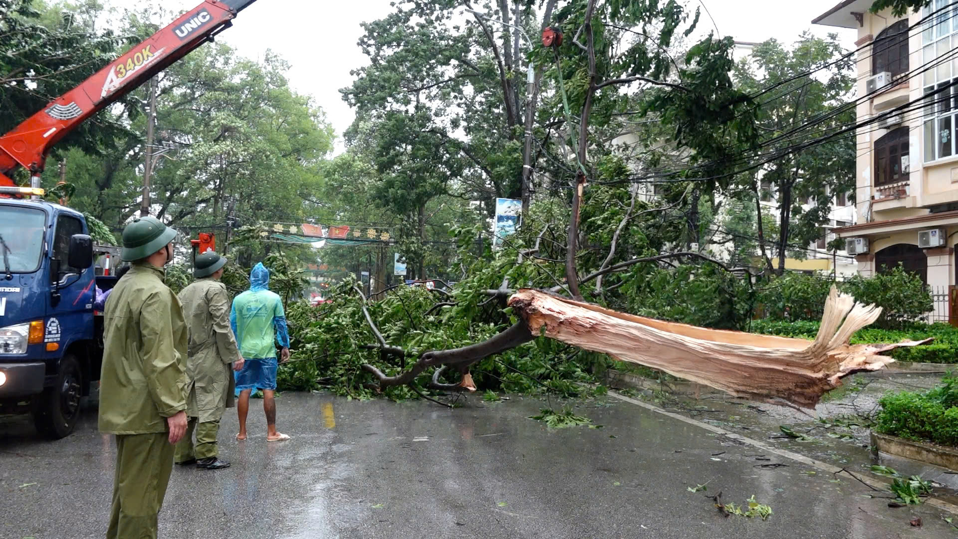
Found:
[[[687,0],[694,10],[699,0]],[[718,27],[719,34],[740,41],[764,41],[770,37],[790,42],[803,31],[816,35],[836,32],[847,48],[854,47],[855,31],[812,27],[811,19],[827,12],[839,0],[779,2],[770,0],[701,0],[715,18],[705,12],[699,28]],[[139,0],[107,0],[115,7],[136,9]],[[164,8],[188,10],[201,0],[165,0]],[[365,64],[356,41],[362,35],[359,23],[381,18],[392,10],[390,0],[259,0],[239,13],[233,28],[217,39],[236,47],[243,56],[258,59],[272,49],[292,65],[288,78],[298,92],[310,94],[326,110],[336,133],[353,123],[354,114],[340,98],[339,88],[353,82],[350,70]],[[341,149],[341,141],[337,144]]]

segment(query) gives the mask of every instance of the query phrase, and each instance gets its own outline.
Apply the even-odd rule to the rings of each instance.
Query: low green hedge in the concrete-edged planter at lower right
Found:
[[[958,446],[958,378],[924,392],[902,391],[882,397],[876,430],[910,440]]]

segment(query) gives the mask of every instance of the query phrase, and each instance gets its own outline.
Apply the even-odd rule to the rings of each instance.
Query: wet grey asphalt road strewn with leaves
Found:
[[[423,402],[356,402],[286,393],[266,443],[254,401],[252,435],[220,433],[226,470],[176,468],[160,537],[172,538],[892,538],[956,537],[930,506],[891,509],[854,480],[822,472],[609,399],[577,403],[602,429],[548,430],[527,416],[545,403],[513,398],[445,410]],[[553,403],[559,408],[559,403]],[[90,410],[76,434],[36,439],[26,419],[0,420],[0,538],[103,537],[112,440]],[[778,462],[787,467],[756,468]],[[749,496],[762,522],[719,515]],[[923,527],[910,527],[921,516]],[[956,519],[958,520],[958,519]]]

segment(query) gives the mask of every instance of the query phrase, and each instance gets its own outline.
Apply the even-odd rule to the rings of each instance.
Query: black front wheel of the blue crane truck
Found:
[[[73,432],[80,417],[80,363],[73,354],[60,360],[57,384],[34,397],[34,426],[48,438],[58,440]]]

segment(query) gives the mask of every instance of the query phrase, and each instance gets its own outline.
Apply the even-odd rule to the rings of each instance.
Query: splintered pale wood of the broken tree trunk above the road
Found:
[[[509,305],[533,335],[657,368],[738,397],[781,399],[809,409],[826,391],[840,386],[843,376],[895,361],[882,352],[930,340],[849,344],[852,334],[878,319],[881,309],[856,304],[834,287],[815,340],[666,322],[535,290],[515,293]]]

